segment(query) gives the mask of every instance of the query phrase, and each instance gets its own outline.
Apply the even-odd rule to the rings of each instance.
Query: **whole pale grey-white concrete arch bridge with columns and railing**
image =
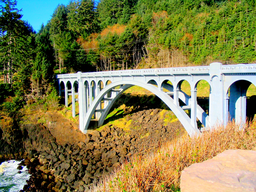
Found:
[[[75,102],[79,103],[79,128],[83,133],[90,121],[98,121],[101,126],[115,101],[136,85],[159,97],[193,136],[201,132],[197,120],[206,129],[226,125],[230,120],[241,125],[246,122],[246,92],[251,84],[256,85],[256,64],[77,72],[57,75],[57,79],[66,106],[72,96],[73,116]],[[202,80],[210,86],[208,114],[197,103],[197,85]],[[183,81],[189,83],[191,95],[180,89]],[[189,115],[185,110],[190,110]]]

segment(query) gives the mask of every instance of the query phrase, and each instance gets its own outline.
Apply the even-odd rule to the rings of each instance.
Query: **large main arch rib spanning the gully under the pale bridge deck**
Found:
[[[85,123],[83,125],[84,130],[82,130],[84,133],[86,133],[87,128],[89,126],[90,120],[92,118],[92,115],[94,114],[97,106],[99,105],[100,101],[104,98],[104,96],[111,91],[113,88],[123,85],[122,91],[120,91],[115,98],[113,98],[112,102],[107,106],[107,108],[105,109],[105,113],[102,113],[101,119],[105,119],[107,113],[109,112],[110,108],[113,106],[114,102],[116,101],[117,98],[120,97],[121,93],[126,90],[127,88],[137,85],[139,87],[143,87],[145,89],[147,89],[148,91],[152,92],[153,94],[155,94],[157,97],[159,97],[172,111],[173,113],[176,115],[176,117],[180,120],[180,122],[182,123],[183,127],[186,129],[186,131],[188,132],[188,134],[190,136],[193,135],[197,135],[200,133],[200,131],[193,127],[190,123],[190,118],[187,116],[187,114],[182,110],[181,107],[176,106],[173,99],[171,97],[169,97],[167,94],[165,94],[164,92],[160,91],[157,87],[149,85],[149,84],[145,84],[145,83],[141,83],[141,82],[130,82],[130,81],[118,81],[118,82],[114,82],[112,84],[109,84],[108,86],[106,86],[101,92],[100,94],[96,97],[96,99],[93,101],[92,105],[90,106],[88,112],[85,115]]]

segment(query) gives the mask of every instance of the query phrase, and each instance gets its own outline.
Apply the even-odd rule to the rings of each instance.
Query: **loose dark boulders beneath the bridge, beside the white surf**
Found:
[[[44,125],[24,124],[15,138],[22,146],[18,153],[13,151],[16,157],[6,156],[5,150],[1,151],[1,160],[25,159],[24,165],[32,176],[23,191],[89,191],[133,155],[149,154],[180,132],[175,128],[180,126],[179,122],[163,126],[152,113],[157,114],[159,110],[136,113],[140,129],[124,131],[105,126],[101,131],[91,130],[84,142],[65,145],[59,144]],[[7,153],[12,154],[12,150]]]

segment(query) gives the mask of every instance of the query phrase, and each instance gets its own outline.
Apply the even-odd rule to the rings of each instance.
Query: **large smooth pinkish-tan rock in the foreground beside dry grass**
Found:
[[[182,192],[256,191],[256,151],[227,150],[181,174]]]

